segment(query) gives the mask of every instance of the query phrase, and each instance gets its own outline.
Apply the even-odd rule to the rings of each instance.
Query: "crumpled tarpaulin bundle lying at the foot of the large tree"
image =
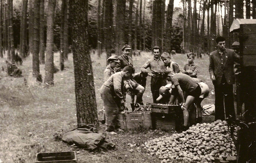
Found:
[[[62,141],[89,151],[114,148],[115,144],[105,138],[106,134],[99,126],[84,125],[64,134]]]

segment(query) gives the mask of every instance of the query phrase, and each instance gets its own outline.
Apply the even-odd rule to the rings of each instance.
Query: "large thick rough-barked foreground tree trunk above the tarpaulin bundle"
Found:
[[[88,0],[72,0],[70,2],[72,3],[70,5],[70,17],[73,18],[71,26],[77,124],[78,126],[81,126],[81,124],[96,124],[98,119],[97,104],[87,33]],[[107,12],[108,10],[106,10]],[[77,15],[81,16],[78,17]],[[87,61],[87,64],[84,64],[84,61]]]

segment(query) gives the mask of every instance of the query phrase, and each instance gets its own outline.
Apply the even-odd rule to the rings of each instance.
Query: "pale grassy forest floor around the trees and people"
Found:
[[[141,56],[133,57],[136,71],[146,59],[153,57],[150,52],[142,52]],[[103,71],[106,68],[106,54],[101,58],[91,53],[97,109],[103,108],[99,89],[102,85]],[[0,67],[6,69],[6,55],[0,59]],[[176,54],[172,60],[181,67],[187,62],[186,55]],[[199,65],[198,78],[205,81],[210,91],[214,90],[208,73],[208,56],[195,59]],[[54,53],[54,64],[59,68],[59,53]],[[172,132],[151,129],[125,130],[118,135],[108,135],[107,139],[116,144],[116,148],[109,151],[88,152],[76,146],[69,146],[54,135],[61,134],[77,127],[73,57],[65,61],[65,70],[54,74],[54,86],[45,88],[32,77],[32,56],[18,65],[22,70],[22,77],[7,76],[0,72],[0,162],[3,163],[32,163],[36,153],[76,151],[78,163],[102,162],[161,162],[156,156],[149,156],[146,149],[140,145],[149,139],[171,135]],[[40,65],[40,72],[45,76],[45,65]],[[25,80],[26,79],[26,80]],[[152,102],[150,95],[150,77],[147,79],[144,103]],[[127,104],[129,107],[129,96]],[[214,103],[214,95],[209,94],[202,105]],[[204,116],[203,122],[213,122],[213,116]],[[138,144],[130,147],[128,143]],[[132,149],[132,150],[131,150]]]

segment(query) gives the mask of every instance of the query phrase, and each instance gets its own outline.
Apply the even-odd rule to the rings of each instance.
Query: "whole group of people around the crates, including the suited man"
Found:
[[[225,98],[226,117],[234,116],[234,107],[232,107],[233,93],[231,98],[232,91],[230,86],[233,83],[233,69],[231,72],[230,65],[227,65],[226,62],[229,61],[233,64],[238,57],[233,50],[225,49],[224,37],[217,37],[216,43],[217,50],[211,52],[209,56],[209,72],[216,94],[215,120],[225,120],[223,98]],[[149,75],[147,68],[151,71],[150,87],[153,103],[176,103],[180,105],[184,115],[184,130],[188,129],[189,125],[192,125],[189,124],[189,120],[196,117],[196,115],[188,112],[192,110],[189,109],[190,107],[197,106],[197,122],[202,122],[201,102],[208,96],[209,88],[206,83],[197,79],[198,65],[193,62],[195,58],[193,53],[187,54],[188,62],[184,65],[184,68],[180,68],[177,63],[171,61],[169,53],[163,52],[161,54],[161,49],[155,46],[152,48],[153,58],[146,61],[141,67],[141,72],[135,73],[132,59],[128,56],[131,52],[131,47],[125,45],[122,51],[122,55],[108,58],[108,66],[104,71],[105,82],[101,87],[101,97],[106,114],[106,131],[115,134],[114,131],[121,130],[118,114],[120,111],[127,109],[125,106],[127,91],[131,92],[132,111],[134,110],[134,95],[137,96],[136,103],[143,105],[142,96],[146,87],[146,78]],[[171,83],[167,84],[167,82]],[[189,116],[192,117],[189,119]]]

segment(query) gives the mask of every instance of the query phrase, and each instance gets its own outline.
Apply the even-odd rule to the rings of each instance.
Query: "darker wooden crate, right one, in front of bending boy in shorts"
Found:
[[[178,105],[173,105],[169,109],[152,108],[151,120],[153,129],[178,131],[183,125],[183,111]]]

